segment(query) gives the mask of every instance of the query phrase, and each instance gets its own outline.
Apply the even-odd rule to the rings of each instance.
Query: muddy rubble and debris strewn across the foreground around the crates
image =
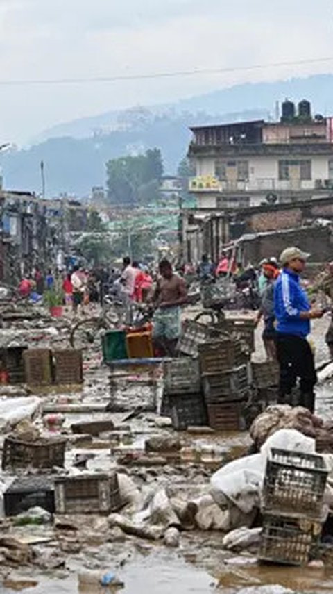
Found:
[[[64,322],[57,321],[56,331],[50,331],[48,320],[45,332],[42,319],[37,322],[41,325],[34,329],[28,325],[22,328],[35,324],[33,320],[19,318],[15,324],[25,336],[36,337],[39,333],[38,345],[51,349],[54,345],[68,347]],[[28,338],[27,343],[35,344],[35,340]],[[34,570],[47,572],[57,568],[70,575],[74,566],[83,575],[90,562],[101,579],[108,574],[109,567],[117,575],[121,567],[117,563],[127,563],[133,550],[150,555],[156,550],[172,554],[167,549],[179,549],[177,554],[185,559],[195,556],[194,563],[216,568],[224,568],[223,561],[230,551],[241,551],[242,563],[249,555],[256,555],[262,536],[258,511],[268,450],[283,444],[315,452],[322,444],[327,452],[333,447],[333,424],[301,407],[291,409],[284,405],[266,408],[253,422],[250,438],[239,432],[219,434],[204,425],[189,426],[179,434],[173,431],[171,418],[157,414],[160,401],[157,400],[155,412],[130,409],[131,390],[136,389],[134,380],[133,386],[118,395],[118,402],[121,397],[126,399],[124,411],[110,413],[106,411],[110,403],[110,372],[99,364],[99,351],[100,345],[92,345],[85,352],[85,381],[79,390],[53,385],[36,388],[35,393],[31,386],[28,395],[21,386],[0,386],[1,438],[15,434],[27,443],[54,436],[66,438],[64,469],[49,468],[42,471],[43,475],[56,481],[64,475],[82,476],[83,472],[102,472],[108,477],[117,472],[119,511],[101,513],[95,509],[96,513],[89,515],[53,515],[26,506],[15,517],[8,517],[6,523],[0,522],[3,567],[15,568],[20,573],[22,568],[29,567],[34,577]],[[141,386],[140,390],[143,389]],[[138,398],[140,394],[141,391]],[[257,453],[244,456],[251,439]],[[329,458],[328,462],[325,506],[333,509],[333,464]],[[34,476],[40,471],[6,470],[0,475],[1,492],[18,475]],[[44,521],[47,523],[40,526]],[[329,557],[326,551],[323,559]],[[118,559],[117,563],[114,559]],[[82,579],[89,591],[87,580]]]

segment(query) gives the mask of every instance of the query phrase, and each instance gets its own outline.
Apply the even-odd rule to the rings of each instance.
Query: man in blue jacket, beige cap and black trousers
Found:
[[[280,404],[291,404],[291,390],[300,379],[300,404],[314,412],[314,386],[317,381],[314,355],[307,341],[310,320],[323,316],[311,309],[307,293],[300,286],[300,274],[310,254],[288,247],[282,251],[282,272],[274,289],[276,349],[280,364]]]

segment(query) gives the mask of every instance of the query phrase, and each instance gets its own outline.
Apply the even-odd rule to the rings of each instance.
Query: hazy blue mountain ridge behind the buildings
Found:
[[[105,184],[105,163],[148,148],[162,150],[167,173],[176,172],[187,151],[189,126],[241,119],[267,119],[276,101],[309,99],[314,113],[333,115],[333,75],[321,74],[273,83],[246,83],[216,90],[175,104],[113,110],[58,124],[44,131],[41,142],[0,153],[6,188],[40,190],[44,160],[48,195],[87,195]]]

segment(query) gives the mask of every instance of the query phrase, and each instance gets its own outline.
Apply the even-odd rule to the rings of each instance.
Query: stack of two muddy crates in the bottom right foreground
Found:
[[[264,478],[259,559],[302,566],[316,555],[327,473],[323,456],[271,449]]]

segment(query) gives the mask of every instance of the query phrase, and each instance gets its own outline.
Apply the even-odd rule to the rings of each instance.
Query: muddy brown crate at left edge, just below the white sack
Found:
[[[41,438],[26,442],[14,436],[6,437],[3,443],[2,468],[53,468],[65,462],[65,438]]]

